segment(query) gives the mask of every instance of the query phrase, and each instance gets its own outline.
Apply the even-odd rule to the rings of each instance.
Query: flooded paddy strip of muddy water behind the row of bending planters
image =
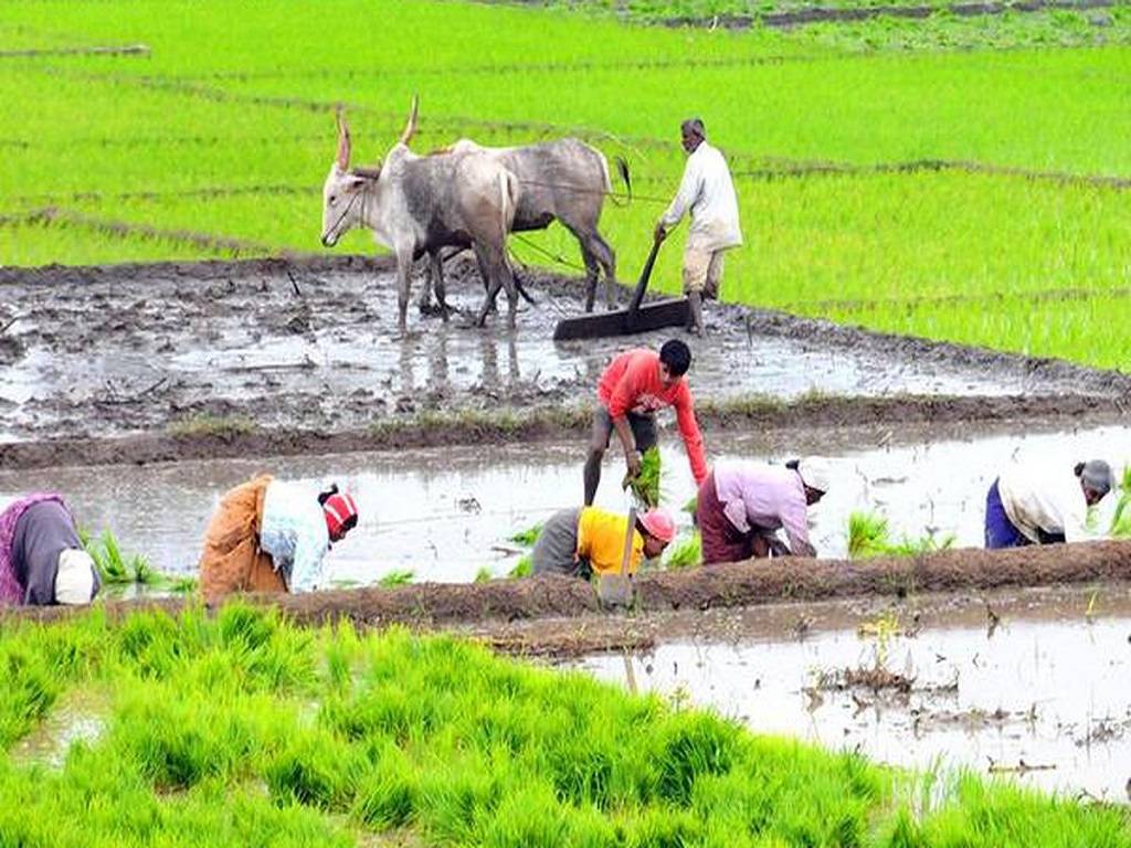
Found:
[[[1078,459],[1108,458],[1122,467],[1131,458],[1131,430],[1100,427],[1028,436],[985,435],[864,448],[860,434],[798,432],[772,442],[750,434],[710,439],[716,457],[778,460],[824,452],[837,460],[832,491],[811,511],[812,535],[827,556],[846,554],[846,523],[853,510],[878,509],[895,535],[953,534],[959,545],[981,545],[985,491],[1012,459],[1070,467]],[[677,508],[694,487],[677,435],[663,438],[666,503]],[[845,443],[846,442],[846,443]],[[80,523],[113,529],[127,552],[147,554],[176,573],[195,570],[209,516],[228,487],[260,470],[317,488],[333,481],[349,487],[363,510],[359,528],[331,552],[327,564],[340,585],[370,583],[395,570],[416,580],[467,581],[486,568],[507,573],[520,551],[511,534],[581,500],[584,445],[454,447],[330,457],[195,461],[145,467],[0,471],[0,504],[19,492],[55,488],[74,504]],[[618,482],[619,452],[606,455],[597,502],[627,509]],[[1110,510],[1106,499],[1103,510]],[[690,516],[679,514],[684,530]],[[1106,517],[1100,526],[1106,526]]]

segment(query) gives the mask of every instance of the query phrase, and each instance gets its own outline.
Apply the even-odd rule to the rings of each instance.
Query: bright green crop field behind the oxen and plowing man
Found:
[[[421,152],[569,133],[624,156],[637,197],[603,228],[630,280],[698,114],[742,206],[726,300],[1125,369],[1131,7],[647,24],[796,7],[12,0],[0,263],[319,252],[335,104],[375,162],[418,93]],[[576,272],[560,227],[530,241],[524,261]]]

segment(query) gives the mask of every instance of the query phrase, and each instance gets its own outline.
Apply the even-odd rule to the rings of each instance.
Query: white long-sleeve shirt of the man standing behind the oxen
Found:
[[[717,148],[701,141],[688,156],[680,190],[661,222],[665,228],[680,223],[691,213],[688,245],[716,251],[742,244],[739,226],[739,198],[734,193],[731,171]]]

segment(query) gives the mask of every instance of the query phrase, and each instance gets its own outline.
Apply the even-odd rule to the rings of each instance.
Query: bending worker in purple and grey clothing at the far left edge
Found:
[[[98,588],[61,495],[29,494],[0,512],[0,606],[89,604]]]

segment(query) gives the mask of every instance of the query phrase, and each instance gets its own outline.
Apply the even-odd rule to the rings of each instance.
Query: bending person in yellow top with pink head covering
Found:
[[[596,507],[555,512],[534,543],[533,574],[588,579],[594,572],[615,574],[624,559],[629,519]],[[663,507],[637,517],[627,571],[634,574],[642,557],[659,556],[675,538],[675,520]]]

